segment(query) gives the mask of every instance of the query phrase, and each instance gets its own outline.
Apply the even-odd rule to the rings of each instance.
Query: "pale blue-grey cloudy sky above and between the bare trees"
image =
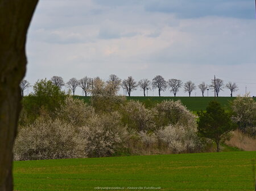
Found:
[[[40,0],[27,38],[26,79],[110,74],[237,82],[256,96],[253,0]],[[31,91],[30,88],[29,91]],[[120,92],[122,93],[122,91]],[[81,94],[77,89],[76,94]],[[148,92],[156,96],[157,91]],[[224,90],[220,96],[229,96]],[[132,96],[140,96],[137,90]],[[163,96],[171,96],[170,91]],[[183,89],[177,96],[186,96]],[[197,89],[192,96],[200,96]],[[213,92],[209,92],[213,96]]]

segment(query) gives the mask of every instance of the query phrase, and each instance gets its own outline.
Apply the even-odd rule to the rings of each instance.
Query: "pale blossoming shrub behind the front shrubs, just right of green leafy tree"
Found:
[[[74,126],[82,126],[90,117],[95,115],[94,108],[84,103],[81,99],[68,96],[59,110],[59,118]]]

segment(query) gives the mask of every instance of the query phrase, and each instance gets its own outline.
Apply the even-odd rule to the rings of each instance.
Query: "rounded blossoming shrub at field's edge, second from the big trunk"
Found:
[[[122,126],[117,112],[96,115],[79,131],[81,146],[88,157],[112,155],[123,147],[127,137],[126,127]]]

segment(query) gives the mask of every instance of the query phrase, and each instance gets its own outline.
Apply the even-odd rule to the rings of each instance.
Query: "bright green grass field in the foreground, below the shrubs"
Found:
[[[14,183],[19,191],[145,190],[144,186],[147,190],[254,190],[252,159],[255,151],[16,161]]]

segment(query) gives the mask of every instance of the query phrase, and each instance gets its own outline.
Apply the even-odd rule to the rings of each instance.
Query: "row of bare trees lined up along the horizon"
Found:
[[[179,92],[179,90],[182,87],[184,88],[184,92],[188,92],[189,97],[191,96],[193,90],[196,90],[197,87],[200,89],[203,97],[205,91],[209,89],[215,91],[217,97],[220,91],[224,90],[224,88],[230,90],[231,97],[233,97],[233,92],[236,92],[238,90],[238,85],[235,82],[228,82],[227,84],[224,84],[224,81],[220,78],[212,80],[210,85],[207,85],[205,84],[205,82],[202,82],[201,84],[196,86],[195,83],[193,83],[192,81],[187,81],[184,84],[183,82],[181,82],[181,80],[177,80],[174,78],[166,81],[160,75],[154,77],[152,81],[148,79],[142,79],[138,82],[136,82],[134,78],[131,76],[129,76],[125,80],[121,80],[115,74],[111,74],[106,82],[104,80],[101,80],[100,77],[90,78],[87,76],[81,78],[80,80],[77,80],[77,78],[71,78],[66,84],[64,83],[63,78],[60,76],[53,76],[51,78],[51,81],[54,85],[58,86],[59,88],[61,88],[64,85],[67,86],[67,88],[72,90],[74,96],[77,87],[82,88],[82,90],[85,93],[85,96],[88,96],[88,94],[100,94],[103,91],[103,89],[105,91],[108,91],[110,94],[117,94],[120,87],[122,87],[123,90],[127,92],[128,96],[131,96],[131,92],[133,90],[136,90],[138,87],[141,88],[141,90],[143,90],[144,96],[146,96],[147,90],[157,89],[159,96],[161,96],[161,92],[170,89],[170,91],[174,93],[175,97],[177,92]],[[24,95],[24,90],[27,89],[29,86],[30,83],[27,80],[23,80],[20,83],[22,96]]]

